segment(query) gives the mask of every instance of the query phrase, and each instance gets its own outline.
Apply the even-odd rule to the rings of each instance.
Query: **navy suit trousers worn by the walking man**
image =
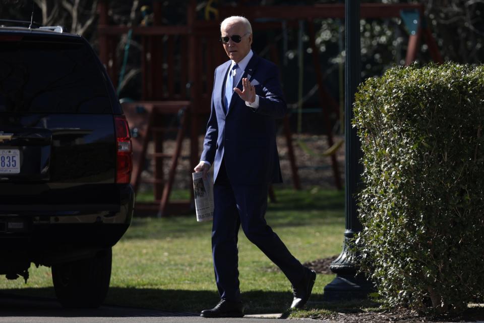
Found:
[[[232,185],[224,160],[214,184],[215,209],[212,227],[212,255],[220,298],[240,300],[237,235],[242,226],[247,238],[266,254],[294,285],[304,267],[267,225],[268,185]]]

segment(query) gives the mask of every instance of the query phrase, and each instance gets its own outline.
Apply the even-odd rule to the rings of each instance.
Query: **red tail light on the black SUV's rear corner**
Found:
[[[116,183],[129,183],[133,170],[133,147],[128,121],[125,116],[114,117],[116,130],[117,155],[116,155]]]

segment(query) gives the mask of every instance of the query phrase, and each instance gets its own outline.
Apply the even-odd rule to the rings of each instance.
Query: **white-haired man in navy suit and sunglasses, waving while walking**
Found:
[[[291,282],[291,308],[301,308],[316,273],[292,256],[265,220],[269,185],[282,182],[275,119],[284,116],[287,106],[279,72],[252,52],[252,27],[246,18],[225,19],[220,33],[230,60],[215,70],[204,148],[194,170],[206,176],[214,167],[212,254],[221,300],[201,316],[244,316],[237,269],[240,226]]]

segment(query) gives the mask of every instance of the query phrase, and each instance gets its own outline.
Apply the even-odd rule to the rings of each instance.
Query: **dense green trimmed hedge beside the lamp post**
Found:
[[[362,268],[389,305],[463,310],[484,291],[484,66],[392,68],[354,112]]]

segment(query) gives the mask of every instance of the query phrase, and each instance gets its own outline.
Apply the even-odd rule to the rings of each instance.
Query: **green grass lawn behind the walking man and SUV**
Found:
[[[183,195],[183,194],[182,194]],[[276,188],[266,219],[301,262],[339,254],[344,232],[344,193]],[[147,196],[139,196],[147,199]],[[183,217],[136,218],[113,248],[106,304],[198,312],[219,300],[211,259],[211,222]],[[244,234],[239,233],[240,289],[246,313],[283,312],[292,300],[290,283]],[[23,280],[0,279],[0,289],[54,296],[50,268],[31,267]],[[311,297],[322,299],[334,275],[318,275]],[[8,290],[8,291],[6,291]],[[311,309],[311,308],[310,308]]]

